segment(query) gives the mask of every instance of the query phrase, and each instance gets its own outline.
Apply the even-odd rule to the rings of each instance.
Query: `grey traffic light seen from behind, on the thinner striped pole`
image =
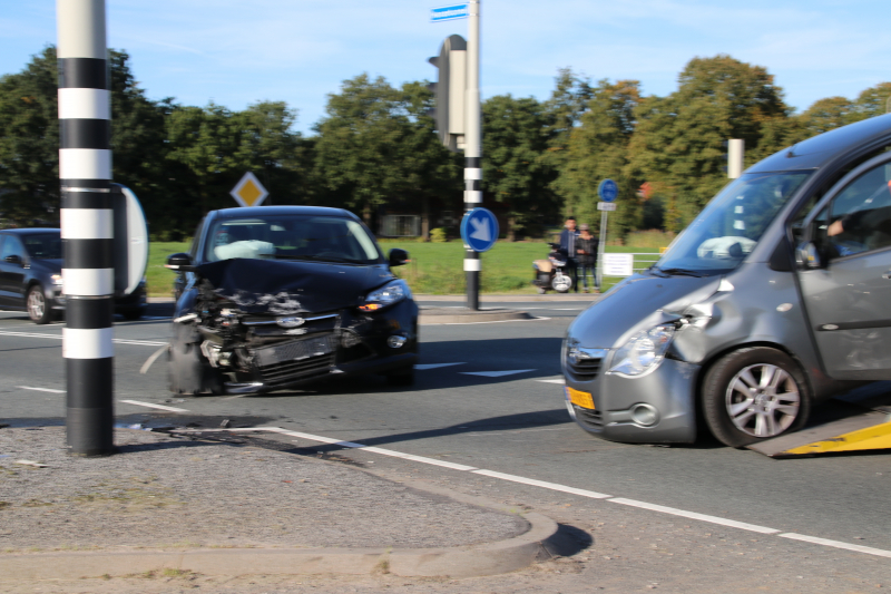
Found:
[[[430,90],[435,94],[435,107],[430,115],[437,120],[437,132],[443,146],[458,152],[464,147],[467,41],[460,35],[447,37],[439,56],[429,61],[439,68],[438,81],[430,85]]]

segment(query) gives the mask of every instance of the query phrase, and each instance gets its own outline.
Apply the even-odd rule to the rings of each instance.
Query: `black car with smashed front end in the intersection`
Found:
[[[173,254],[175,393],[256,393],[334,376],[414,381],[418,305],[354,214],[263,206],[209,213]]]

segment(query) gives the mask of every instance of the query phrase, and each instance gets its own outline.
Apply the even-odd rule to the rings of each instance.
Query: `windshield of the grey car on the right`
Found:
[[[734,270],[811,172],[746,174],[727,185],[652,269],[667,274]]]

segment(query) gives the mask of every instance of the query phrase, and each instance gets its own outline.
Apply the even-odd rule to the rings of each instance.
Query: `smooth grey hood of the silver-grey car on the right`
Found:
[[[581,312],[569,327],[569,335],[588,348],[619,347],[633,333],[676,319],[689,305],[712,295],[721,279],[635,274]]]

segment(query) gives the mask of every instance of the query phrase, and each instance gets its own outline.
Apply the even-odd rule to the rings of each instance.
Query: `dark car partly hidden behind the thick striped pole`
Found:
[[[115,311],[138,320],[146,306],[145,282],[115,299]],[[0,309],[27,311],[38,324],[65,310],[62,240],[58,228],[0,231]]]

